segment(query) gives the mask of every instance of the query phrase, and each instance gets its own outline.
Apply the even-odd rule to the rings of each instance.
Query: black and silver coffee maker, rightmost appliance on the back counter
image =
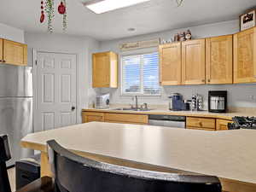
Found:
[[[227,112],[227,94],[226,90],[210,90],[208,93],[208,110],[212,113]]]

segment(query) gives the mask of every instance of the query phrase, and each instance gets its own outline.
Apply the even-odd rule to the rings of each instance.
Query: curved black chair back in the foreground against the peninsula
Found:
[[[221,192],[218,177],[150,172],[73,154],[54,140],[49,163],[60,192]]]

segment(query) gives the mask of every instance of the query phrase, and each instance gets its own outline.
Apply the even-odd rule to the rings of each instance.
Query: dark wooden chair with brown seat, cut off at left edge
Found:
[[[0,135],[0,192],[11,192],[6,161],[11,159],[9,140],[6,135]],[[42,177],[26,185],[17,192],[54,192],[54,182],[50,177]]]

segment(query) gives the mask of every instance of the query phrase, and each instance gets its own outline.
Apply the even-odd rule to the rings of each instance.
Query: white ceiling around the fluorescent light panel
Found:
[[[47,32],[47,21],[39,23],[41,0],[0,0],[0,22],[26,32]],[[126,1],[126,0],[123,0]],[[60,0],[55,0],[55,7]],[[197,26],[238,19],[255,0],[151,0],[125,9],[96,15],[81,0],[67,0],[67,34],[90,36],[98,40],[126,38],[151,32]],[[135,31],[128,31],[135,28]],[[55,11],[54,32],[61,31],[61,15]]]

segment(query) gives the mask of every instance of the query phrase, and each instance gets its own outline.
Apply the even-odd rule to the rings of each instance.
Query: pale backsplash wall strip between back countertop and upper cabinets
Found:
[[[161,88],[161,96],[138,96],[138,102],[148,104],[167,105],[168,96],[172,93],[180,93],[183,99],[191,99],[196,93],[204,98],[204,109],[208,105],[209,90],[228,90],[228,106],[236,108],[256,108],[256,84],[224,84],[224,85],[178,85],[164,86]],[[98,93],[111,93],[111,103],[133,103],[132,96],[120,96],[120,90],[102,88]]]

